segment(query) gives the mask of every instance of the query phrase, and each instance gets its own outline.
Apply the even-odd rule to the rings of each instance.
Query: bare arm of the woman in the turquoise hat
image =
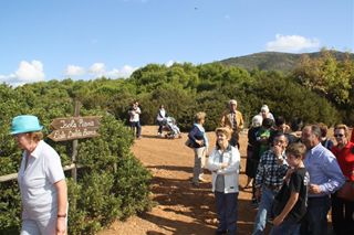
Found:
[[[58,192],[58,215],[56,218],[56,234],[65,234],[66,233],[66,212],[67,212],[67,190],[65,180],[60,180],[54,183],[56,192]],[[65,215],[65,216],[64,216]]]

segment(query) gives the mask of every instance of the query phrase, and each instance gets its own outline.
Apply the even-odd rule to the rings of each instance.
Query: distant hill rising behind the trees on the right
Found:
[[[339,51],[330,52],[337,61],[343,61],[347,54],[352,60],[354,60],[353,53],[344,53]],[[282,71],[287,73],[293,71],[298,66],[300,58],[303,55],[309,55],[311,58],[317,58],[321,56],[321,52],[303,54],[261,52],[239,57],[230,57],[215,63],[220,63],[227,66],[239,66],[248,71],[259,68],[261,71]]]

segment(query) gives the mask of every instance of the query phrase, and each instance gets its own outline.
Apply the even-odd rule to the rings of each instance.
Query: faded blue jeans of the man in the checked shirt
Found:
[[[253,235],[263,234],[266,228],[267,218],[269,217],[274,201],[274,196],[278,192],[271,191],[266,186],[262,186],[261,202],[258,207],[256,216]]]

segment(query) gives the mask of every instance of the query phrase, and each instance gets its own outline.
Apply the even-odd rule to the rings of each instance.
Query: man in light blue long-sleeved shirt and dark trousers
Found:
[[[308,149],[304,164],[310,174],[310,188],[308,212],[301,223],[300,233],[327,234],[330,194],[339,190],[345,179],[333,153],[321,145],[319,126],[305,126],[301,140]]]

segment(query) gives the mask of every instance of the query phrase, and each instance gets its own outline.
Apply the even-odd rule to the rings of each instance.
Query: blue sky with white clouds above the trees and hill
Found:
[[[128,77],[274,51],[354,52],[353,0],[1,0],[0,83]]]

